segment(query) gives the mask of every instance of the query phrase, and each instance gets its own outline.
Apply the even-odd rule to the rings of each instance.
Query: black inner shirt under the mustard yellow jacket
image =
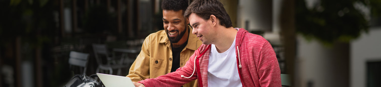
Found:
[[[172,47],[172,69],[171,72],[176,71],[176,69],[180,68],[180,53],[182,49],[184,49],[188,44],[188,40],[182,44],[180,47]]]

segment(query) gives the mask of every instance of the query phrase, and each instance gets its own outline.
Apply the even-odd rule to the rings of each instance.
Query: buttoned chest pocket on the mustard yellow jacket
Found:
[[[156,78],[165,74],[164,71],[166,62],[164,62],[163,60],[158,60],[156,58],[150,57],[149,64],[150,78]]]

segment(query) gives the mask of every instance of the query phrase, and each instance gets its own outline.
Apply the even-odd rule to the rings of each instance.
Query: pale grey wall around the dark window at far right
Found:
[[[366,62],[381,61],[381,27],[372,27],[351,42],[350,86],[366,86]]]

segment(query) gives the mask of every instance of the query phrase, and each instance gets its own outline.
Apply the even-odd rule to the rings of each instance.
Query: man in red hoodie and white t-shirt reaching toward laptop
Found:
[[[199,79],[199,87],[281,87],[274,49],[260,35],[233,28],[218,0],[196,0],[184,16],[202,45],[184,67],[136,87],[179,87]]]

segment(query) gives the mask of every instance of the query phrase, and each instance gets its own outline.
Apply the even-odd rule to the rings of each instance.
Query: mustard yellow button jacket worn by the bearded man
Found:
[[[188,44],[180,53],[180,67],[184,66],[197,48],[202,44],[189,27]],[[142,50],[131,65],[127,77],[133,82],[170,73],[172,68],[171,43],[164,30],[152,33],[143,42]],[[197,87],[197,80],[189,82],[183,87]]]

